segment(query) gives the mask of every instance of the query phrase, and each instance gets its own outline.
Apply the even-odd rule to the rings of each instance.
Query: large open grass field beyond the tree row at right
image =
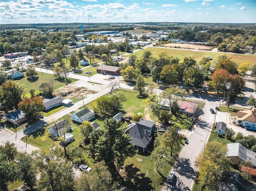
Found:
[[[144,51],[150,51],[153,57],[158,58],[158,55],[161,51],[166,51],[169,55],[173,57],[178,57],[180,61],[183,61],[184,57],[192,57],[196,60],[196,63],[206,57],[210,56],[212,58],[211,65],[215,66],[216,61],[218,60],[219,55],[223,55],[225,53],[220,52],[206,52],[206,51],[192,51],[192,50],[181,50],[181,49],[169,49],[169,48],[156,48],[156,47],[149,47],[146,49],[142,49],[138,52],[135,52],[137,57],[141,57]],[[126,55],[124,57],[130,57],[131,54]],[[250,67],[252,67],[256,63],[256,56],[255,55],[246,55],[246,54],[235,54],[235,53],[226,53],[229,58],[232,58],[232,61],[236,62],[238,65],[244,62],[249,62]]]

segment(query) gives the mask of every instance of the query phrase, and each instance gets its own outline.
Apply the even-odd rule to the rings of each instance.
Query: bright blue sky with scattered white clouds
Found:
[[[0,0],[0,24],[256,23],[256,0]]]

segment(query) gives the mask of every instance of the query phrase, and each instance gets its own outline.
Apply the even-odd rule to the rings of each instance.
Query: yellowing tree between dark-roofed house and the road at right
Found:
[[[167,131],[163,134],[162,144],[170,148],[170,156],[178,154],[181,148],[183,136],[178,133],[176,125],[168,127]]]

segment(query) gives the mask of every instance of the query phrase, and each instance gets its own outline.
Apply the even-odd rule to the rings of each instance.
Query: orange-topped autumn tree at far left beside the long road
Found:
[[[28,120],[35,121],[39,119],[40,112],[44,110],[44,102],[37,96],[25,98],[19,102],[18,109],[24,112]]]

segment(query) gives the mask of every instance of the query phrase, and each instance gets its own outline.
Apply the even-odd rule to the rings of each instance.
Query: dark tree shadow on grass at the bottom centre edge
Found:
[[[133,167],[134,164],[126,165],[124,167],[126,176],[124,181],[129,187],[134,190],[150,191],[153,190],[151,183],[152,180],[146,177],[144,173],[141,173],[138,167]]]

